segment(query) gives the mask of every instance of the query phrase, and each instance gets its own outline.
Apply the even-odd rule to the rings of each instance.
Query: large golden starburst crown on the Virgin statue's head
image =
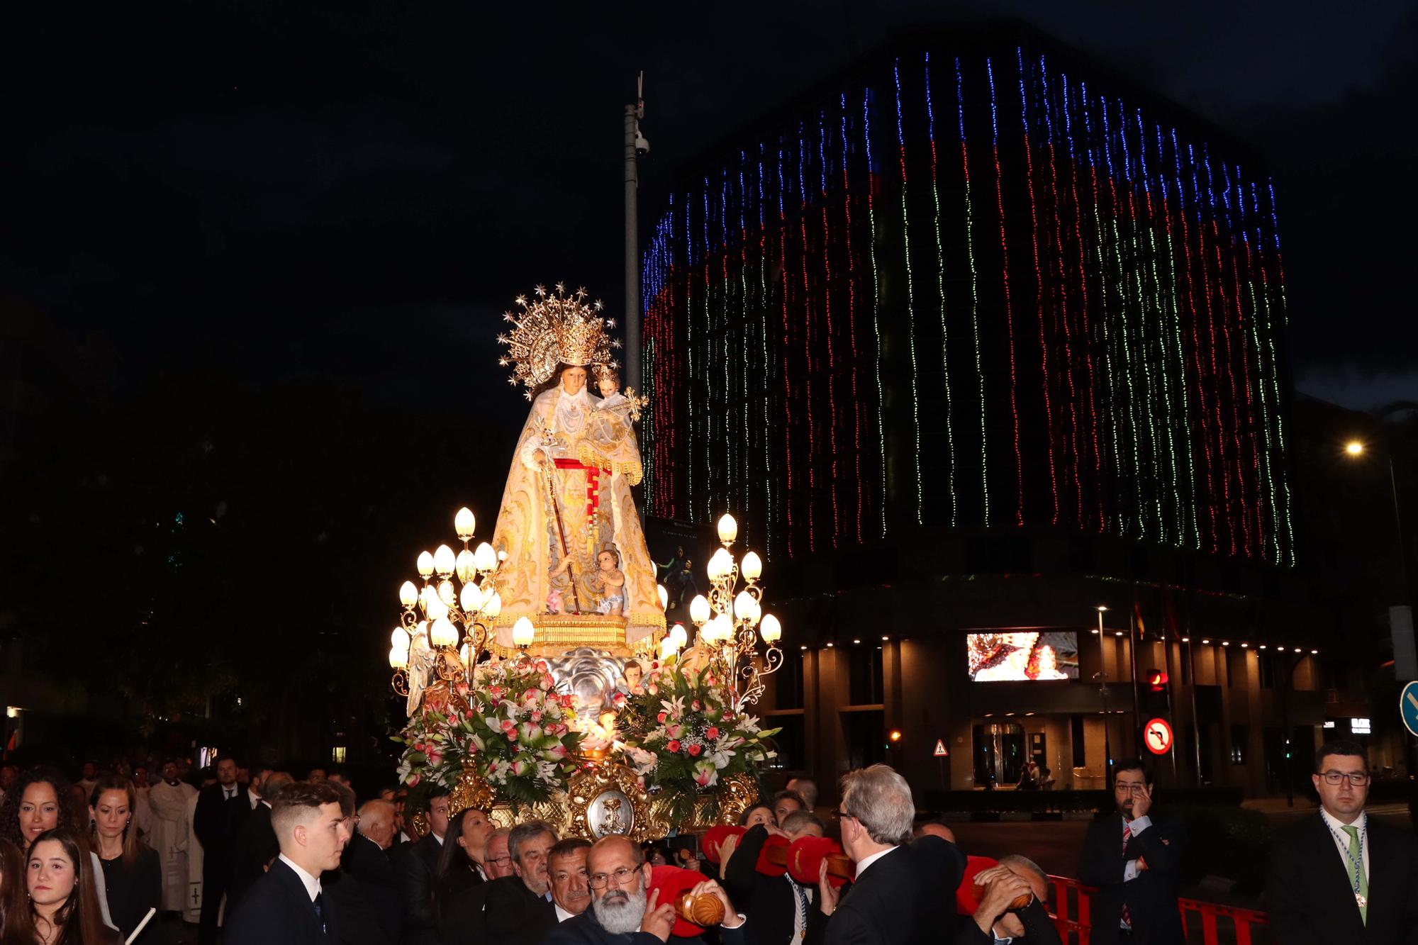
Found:
[[[520,316],[512,312],[502,315],[515,328],[509,335],[498,335],[498,341],[508,346],[508,353],[498,363],[512,368],[508,383],[516,386],[522,382],[529,400],[532,389],[549,380],[559,365],[620,368],[611,359],[611,348],[621,345],[605,333],[605,329],[615,328],[615,321],[600,316],[601,304],[587,304],[584,288],[570,295],[563,282],[553,288],[556,292],[549,294],[537,285],[532,302],[519,295]]]

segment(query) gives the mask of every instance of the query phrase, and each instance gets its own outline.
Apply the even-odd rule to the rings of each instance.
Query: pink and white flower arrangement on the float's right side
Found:
[[[676,820],[692,816],[695,797],[713,795],[722,779],[756,775],[777,755],[771,738],[781,729],[759,728],[720,674],[713,664],[695,670],[669,657],[651,667],[618,717],[625,762],[645,786],[669,795]],[[716,807],[710,800],[710,816]]]

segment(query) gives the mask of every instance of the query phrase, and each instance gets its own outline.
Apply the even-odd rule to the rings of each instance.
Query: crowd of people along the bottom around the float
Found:
[[[1319,816],[1290,829],[1271,864],[1275,941],[1408,941],[1418,844],[1366,813],[1361,746],[1327,744],[1314,763]],[[200,790],[173,762],[159,783],[145,773],[85,766],[71,783],[0,769],[0,945],[157,942],[145,924],[164,911],[196,918],[203,945],[1061,944],[1044,870],[967,856],[946,823],[917,817],[885,765],[842,779],[830,823],[817,785],[798,778],[703,850],[696,837],[593,843],[536,819],[498,826],[489,810],[451,812],[440,790],[423,809],[427,833],[411,836],[400,792],[362,800],[323,770],[295,780],[224,758]],[[1095,887],[1093,942],[1187,941],[1185,824],[1154,810],[1154,795],[1147,766],[1122,761],[1115,809],[1089,824],[1078,878]],[[803,847],[832,854],[815,881],[763,868],[769,847],[821,837]]]

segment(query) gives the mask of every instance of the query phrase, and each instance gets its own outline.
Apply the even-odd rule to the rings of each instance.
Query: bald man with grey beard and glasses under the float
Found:
[[[675,928],[675,907],[658,901],[649,888],[649,864],[640,846],[611,834],[591,846],[587,858],[591,908],[574,915],[542,939],[542,945],[662,945]],[[744,945],[744,918],[713,880],[699,883],[691,892],[716,895],[723,902],[722,945]]]

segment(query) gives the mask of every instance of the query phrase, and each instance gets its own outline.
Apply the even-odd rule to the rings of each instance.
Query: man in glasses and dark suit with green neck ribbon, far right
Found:
[[[1418,841],[1370,819],[1364,748],[1350,739],[1314,752],[1320,796],[1275,841],[1266,904],[1285,945],[1418,942]]]

